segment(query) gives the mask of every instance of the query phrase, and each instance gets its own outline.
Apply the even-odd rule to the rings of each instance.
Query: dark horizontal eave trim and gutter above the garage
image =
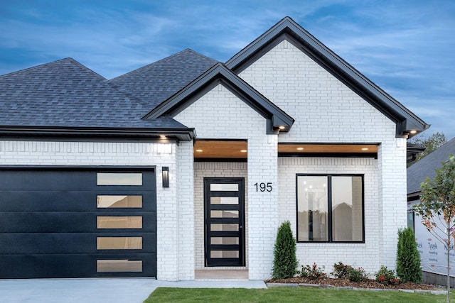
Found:
[[[166,136],[169,141],[192,141],[196,137],[194,128],[0,127],[0,138],[14,138],[16,136],[21,138],[119,138],[144,140]]]

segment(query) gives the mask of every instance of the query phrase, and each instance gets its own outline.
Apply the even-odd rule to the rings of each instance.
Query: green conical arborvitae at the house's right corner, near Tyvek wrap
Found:
[[[422,282],[420,255],[411,228],[398,231],[397,275],[402,282]]]

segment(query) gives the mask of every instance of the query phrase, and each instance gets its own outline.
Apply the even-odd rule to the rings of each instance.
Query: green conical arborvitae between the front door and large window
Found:
[[[292,236],[291,223],[285,221],[278,228],[275,241],[272,277],[286,279],[297,272],[296,239]]]

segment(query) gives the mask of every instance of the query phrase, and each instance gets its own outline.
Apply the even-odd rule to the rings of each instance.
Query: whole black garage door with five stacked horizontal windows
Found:
[[[0,277],[156,277],[153,168],[0,168]]]

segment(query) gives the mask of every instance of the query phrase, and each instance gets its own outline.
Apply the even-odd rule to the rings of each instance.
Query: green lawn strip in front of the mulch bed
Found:
[[[451,299],[455,299],[451,293]],[[416,294],[396,291],[321,290],[309,287],[245,288],[157,288],[144,303],[151,302],[337,302],[337,303],[443,303],[445,295]]]

